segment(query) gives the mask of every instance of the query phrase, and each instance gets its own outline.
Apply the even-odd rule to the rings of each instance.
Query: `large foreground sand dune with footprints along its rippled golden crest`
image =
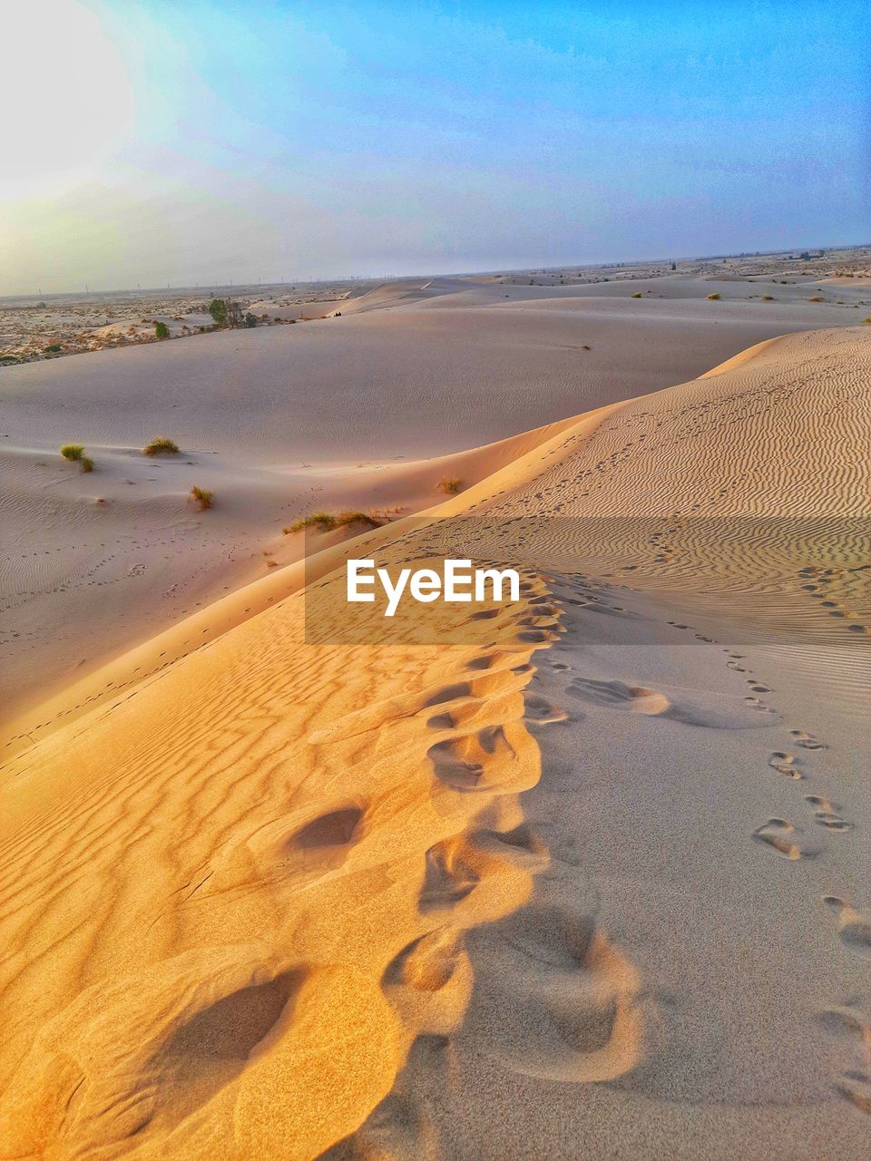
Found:
[[[856,327],[609,403],[56,702],[5,1155],[864,1158],[870,377]],[[439,538],[519,604],[341,643],[343,557]]]

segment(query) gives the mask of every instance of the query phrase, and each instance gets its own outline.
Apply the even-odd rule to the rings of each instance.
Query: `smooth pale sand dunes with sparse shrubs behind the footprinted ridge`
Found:
[[[21,715],[295,560],[281,533],[295,518],[426,509],[442,475],[466,488],[502,462],[469,447],[868,310],[851,304],[868,297],[862,287],[844,290],[843,305],[828,293],[809,303],[809,283],[793,277],[763,303],[769,287],[730,277],[405,280],[287,308],[341,308],[341,318],[0,370],[3,719],[15,719],[13,733],[38,727],[42,716]],[[708,302],[714,286],[722,300]],[[138,454],[159,434],[179,442],[178,460]],[[69,441],[87,445],[94,473],[60,460]],[[215,492],[210,512],[187,499],[193,484]]]

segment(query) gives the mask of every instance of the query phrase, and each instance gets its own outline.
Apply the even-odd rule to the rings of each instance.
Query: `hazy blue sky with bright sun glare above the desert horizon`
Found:
[[[871,239],[866,0],[0,6],[0,295]]]

